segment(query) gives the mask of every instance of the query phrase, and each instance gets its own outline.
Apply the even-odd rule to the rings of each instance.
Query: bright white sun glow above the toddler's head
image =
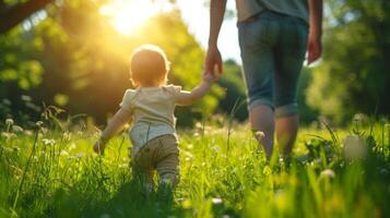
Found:
[[[164,1],[156,3],[149,0],[114,0],[101,8],[101,14],[110,19],[111,25],[121,34],[130,35],[147,19],[166,11],[169,7]]]

